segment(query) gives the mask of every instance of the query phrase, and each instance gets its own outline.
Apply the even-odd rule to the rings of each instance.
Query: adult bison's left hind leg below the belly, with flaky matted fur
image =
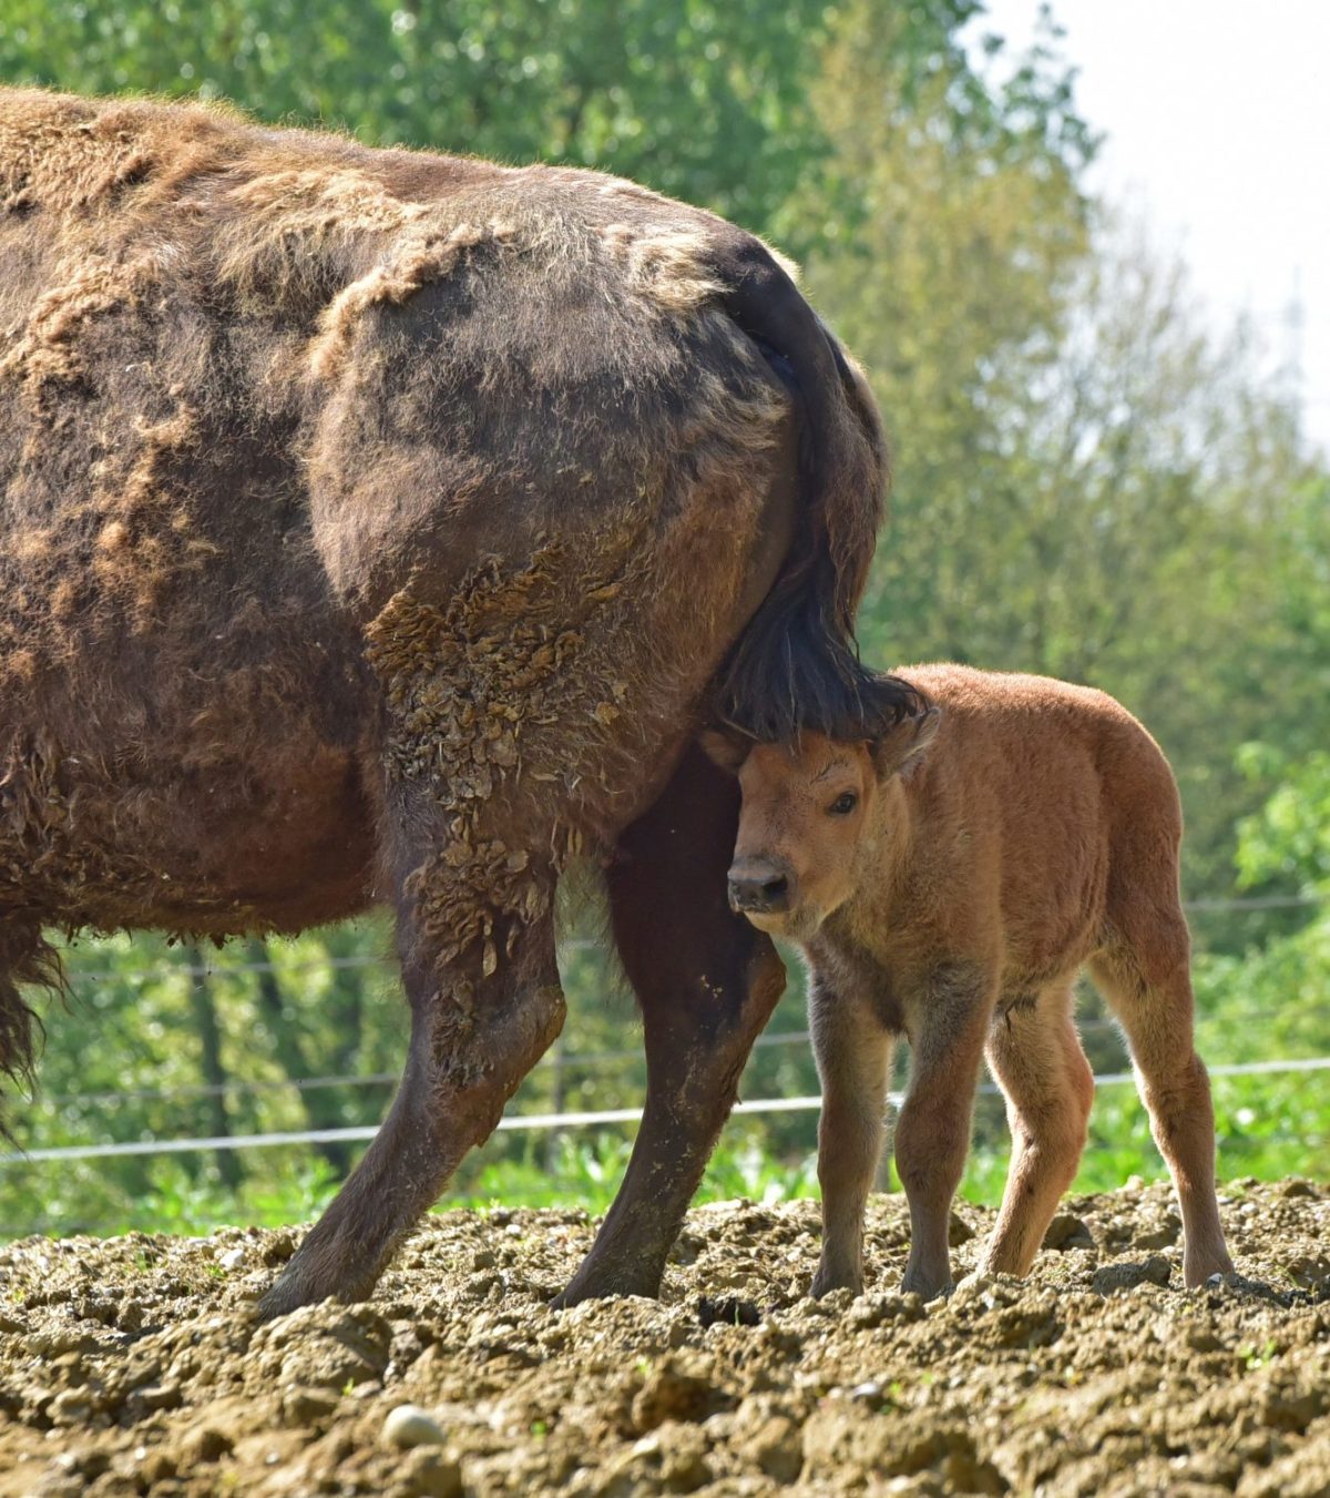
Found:
[[[461,1158],[493,1132],[503,1106],[563,1028],[547,893],[532,920],[509,915],[464,950],[440,950],[428,896],[446,855],[416,870],[398,942],[412,1005],[401,1086],[364,1159],[264,1297],[264,1317],[337,1296],[364,1300],[403,1234]],[[431,878],[437,875],[437,878]],[[506,929],[505,929],[506,926]],[[445,954],[446,953],[446,954]],[[502,956],[500,956],[502,953]]]

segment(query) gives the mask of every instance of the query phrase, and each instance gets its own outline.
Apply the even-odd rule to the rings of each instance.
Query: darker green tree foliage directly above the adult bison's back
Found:
[[[819,0],[0,0],[0,79],[198,93],[267,120],[343,126],[371,144],[598,166],[779,234],[803,253],[818,223],[801,204],[828,151],[809,96],[846,9]],[[945,60],[957,114],[993,114],[956,40],[980,10],[977,0],[902,7],[885,30],[906,94]]]

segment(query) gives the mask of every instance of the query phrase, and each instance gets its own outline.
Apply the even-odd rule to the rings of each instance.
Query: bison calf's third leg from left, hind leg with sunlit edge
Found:
[[[989,1065],[1006,1097],[1011,1168],[980,1270],[1024,1275],[1080,1164],[1095,1079],[1068,983],[1012,998],[989,1032]]]

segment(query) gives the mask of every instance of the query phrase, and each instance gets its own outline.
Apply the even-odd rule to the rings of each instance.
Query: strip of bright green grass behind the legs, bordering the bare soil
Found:
[[[1221,1179],[1288,1174],[1330,1179],[1330,1089],[1318,1076],[1221,1077],[1213,1083]],[[996,1204],[1008,1146],[996,1100],[977,1118],[962,1195]],[[711,1159],[698,1201],[773,1203],[818,1194],[816,1115],[771,1125],[735,1119]],[[451,1207],[583,1207],[604,1212],[628,1165],[631,1129],[496,1135],[473,1153],[439,1203]],[[34,1162],[0,1171],[0,1221],[12,1236],[46,1233],[208,1233],[228,1224],[280,1227],[316,1216],[337,1189],[331,1167],[303,1149],[243,1152],[246,1179],[225,1188],[211,1158]],[[123,1167],[123,1168],[121,1168]],[[1075,1191],[1108,1191],[1131,1176],[1165,1177],[1144,1109],[1129,1086],[1102,1088]]]

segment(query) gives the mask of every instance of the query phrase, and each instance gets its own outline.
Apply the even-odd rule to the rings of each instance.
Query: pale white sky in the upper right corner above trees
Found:
[[[1296,360],[1303,431],[1330,452],[1330,0],[1053,0],[1092,186],[1192,273],[1216,328],[1249,313]],[[980,30],[1033,36],[1038,0]],[[1291,310],[1299,310],[1299,327]]]

